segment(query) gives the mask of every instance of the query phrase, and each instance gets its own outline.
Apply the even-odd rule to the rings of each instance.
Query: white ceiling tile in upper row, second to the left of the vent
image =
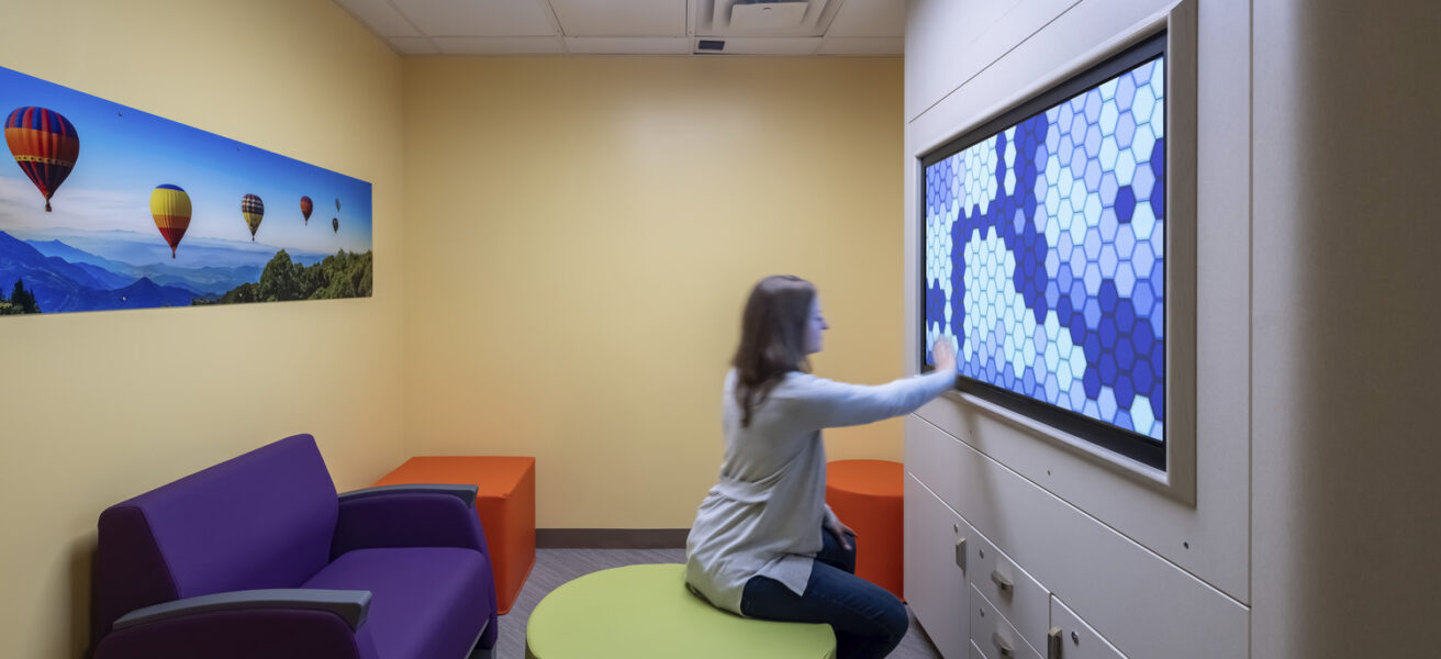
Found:
[[[392,0],[429,36],[553,36],[543,0]]]

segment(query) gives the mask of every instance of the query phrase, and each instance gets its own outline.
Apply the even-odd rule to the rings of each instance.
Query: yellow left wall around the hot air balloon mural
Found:
[[[6,0],[0,26],[6,68],[375,186],[373,298],[0,322],[0,656],[72,658],[105,506],[291,433],[342,489],[401,460],[402,71],[329,0]]]

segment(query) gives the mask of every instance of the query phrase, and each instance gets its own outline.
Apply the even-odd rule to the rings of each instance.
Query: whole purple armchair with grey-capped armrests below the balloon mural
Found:
[[[336,495],[308,434],[99,516],[95,659],[491,658],[476,486]]]

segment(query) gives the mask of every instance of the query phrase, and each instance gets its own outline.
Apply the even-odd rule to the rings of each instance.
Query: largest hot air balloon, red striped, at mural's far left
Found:
[[[53,110],[14,108],[4,121],[4,141],[14,162],[45,195],[45,212],[50,212],[50,198],[81,154],[75,125]]]

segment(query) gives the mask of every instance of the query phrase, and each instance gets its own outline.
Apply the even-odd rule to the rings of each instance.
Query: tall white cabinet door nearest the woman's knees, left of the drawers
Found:
[[[919,480],[905,477],[905,596],[945,659],[970,655],[964,545],[970,526]]]

